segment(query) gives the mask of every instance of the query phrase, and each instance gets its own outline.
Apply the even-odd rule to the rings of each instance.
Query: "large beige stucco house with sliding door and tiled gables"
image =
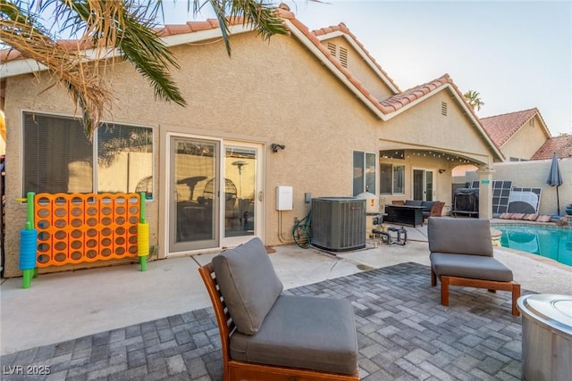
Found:
[[[146,190],[159,258],[214,252],[251,236],[291,243],[294,219],[307,214],[305,194],[367,190],[382,204],[449,202],[459,164],[480,168],[480,207],[491,210],[491,169],[504,157],[448,75],[401,91],[344,24],[312,32],[293,13],[281,14],[290,37],[265,42],[232,26],[232,58],[216,21],[165,27],[181,64],[172,76],[188,106],[156,101],[129,63],[115,64],[105,79],[119,101],[93,142],[63,87],[32,73],[33,62],[3,60],[13,169],[4,275],[20,273],[26,205],[16,198],[28,191]],[[292,186],[291,210],[277,208],[278,186]]]

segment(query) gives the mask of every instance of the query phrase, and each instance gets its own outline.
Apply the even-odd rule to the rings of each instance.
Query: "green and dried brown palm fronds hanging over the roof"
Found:
[[[265,0],[187,0],[188,11],[191,1],[195,14],[212,5],[229,56],[231,23],[241,20],[252,25],[264,39],[289,33],[274,5]],[[156,99],[186,104],[169,71],[179,69],[179,64],[153,29],[162,5],[163,0],[0,0],[0,40],[45,66],[54,79],[49,87],[65,85],[91,138],[112,104],[100,70],[117,59],[135,66],[154,87]],[[51,28],[46,28],[45,20],[38,21],[46,12],[52,12]],[[57,42],[63,32],[76,39]],[[89,60],[88,48],[93,54]]]

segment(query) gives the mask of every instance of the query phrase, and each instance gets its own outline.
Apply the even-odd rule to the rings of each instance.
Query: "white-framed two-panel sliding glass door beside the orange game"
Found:
[[[263,145],[170,138],[169,252],[263,236]]]

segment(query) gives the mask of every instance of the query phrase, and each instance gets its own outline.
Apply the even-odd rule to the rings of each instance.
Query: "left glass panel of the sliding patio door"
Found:
[[[172,138],[172,251],[216,245],[217,143]]]

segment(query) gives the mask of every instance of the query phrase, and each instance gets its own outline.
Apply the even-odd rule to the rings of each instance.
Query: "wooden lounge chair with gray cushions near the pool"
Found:
[[[431,286],[441,280],[441,303],[449,305],[449,286],[467,286],[512,292],[512,314],[518,316],[520,285],[512,271],[492,258],[488,219],[429,219]]]

